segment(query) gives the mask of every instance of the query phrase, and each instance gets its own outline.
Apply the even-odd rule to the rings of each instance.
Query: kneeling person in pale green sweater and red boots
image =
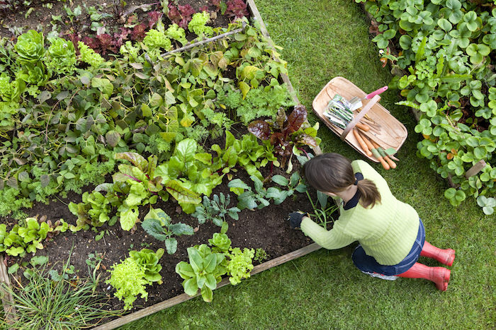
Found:
[[[448,288],[449,269],[428,267],[417,259],[424,256],[451,266],[455,251],[438,249],[425,240],[424,225],[415,208],[398,201],[371,165],[325,153],[308,160],[303,175],[315,189],[342,199],[340,216],[327,231],[305,214],[293,212],[289,215],[291,228],[301,228],[326,249],[359,241],[352,259],[368,275],[388,280],[424,278],[436,283],[439,290]]]

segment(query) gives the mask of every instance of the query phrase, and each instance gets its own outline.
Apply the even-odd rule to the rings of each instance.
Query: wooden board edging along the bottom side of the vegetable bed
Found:
[[[261,273],[262,271],[266,271],[267,269],[271,269],[275,266],[279,266],[281,264],[284,264],[287,261],[291,261],[293,259],[296,259],[298,257],[303,257],[305,254],[309,254],[311,252],[317,251],[317,249],[320,249],[320,245],[317,243],[312,243],[310,245],[307,245],[306,247],[302,247],[301,249],[298,249],[296,251],[293,251],[288,254],[284,254],[281,257],[272,259],[270,261],[264,262],[264,264],[259,264],[254,267],[254,269],[250,272],[250,275],[254,275],[257,273]],[[218,283],[217,288],[222,288],[222,286],[230,284],[229,278],[223,278],[220,283]],[[93,328],[93,330],[111,330],[115,329],[118,326],[123,326],[125,324],[128,324],[130,322],[134,322],[137,319],[141,319],[142,317],[147,317],[148,315],[154,314],[156,312],[159,312],[161,310],[165,310],[166,308],[172,307],[174,305],[180,304],[181,302],[185,302],[187,300],[193,299],[194,297],[198,297],[200,294],[197,294],[193,297],[186,295],[186,293],[183,293],[182,295],[177,295],[176,297],[172,297],[169,300],[165,300],[163,302],[159,302],[158,304],[155,304],[153,306],[144,308],[142,310],[139,310],[137,312],[131,313],[129,315],[126,315],[125,317],[121,317],[120,319],[115,319],[111,322],[108,322],[106,324],[102,324],[101,326],[96,326]]]

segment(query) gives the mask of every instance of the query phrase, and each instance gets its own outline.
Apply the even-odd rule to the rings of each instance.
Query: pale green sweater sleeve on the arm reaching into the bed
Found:
[[[340,249],[356,241],[355,237],[343,233],[339,221],[334,223],[332,230],[325,230],[310,218],[303,217],[300,228],[305,235],[325,249]]]

